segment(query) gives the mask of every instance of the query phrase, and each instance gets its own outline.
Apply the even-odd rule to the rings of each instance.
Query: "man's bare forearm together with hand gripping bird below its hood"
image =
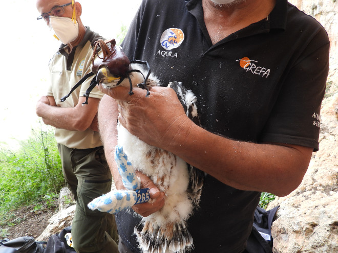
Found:
[[[149,98],[138,88],[133,96],[125,87],[103,91],[121,105],[120,123],[129,132],[231,187],[287,195],[307,170],[312,148],[233,141],[210,133],[188,119],[172,89],[152,87]]]

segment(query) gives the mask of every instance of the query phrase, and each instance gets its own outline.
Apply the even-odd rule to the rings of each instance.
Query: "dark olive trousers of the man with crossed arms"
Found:
[[[73,245],[78,253],[117,253],[118,234],[114,215],[92,211],[87,204],[111,191],[112,175],[103,147],[71,149],[58,144],[62,172],[76,201],[72,223]]]

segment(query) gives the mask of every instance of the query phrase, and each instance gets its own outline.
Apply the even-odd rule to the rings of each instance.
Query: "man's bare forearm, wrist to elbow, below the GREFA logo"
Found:
[[[300,184],[312,148],[226,139],[193,124],[178,128],[167,150],[227,185],[282,196]]]

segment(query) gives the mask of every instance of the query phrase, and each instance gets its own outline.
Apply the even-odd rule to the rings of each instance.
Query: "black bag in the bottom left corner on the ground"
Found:
[[[0,242],[0,253],[43,253],[42,244],[46,242],[37,242],[33,237],[23,236],[13,240],[2,240]]]

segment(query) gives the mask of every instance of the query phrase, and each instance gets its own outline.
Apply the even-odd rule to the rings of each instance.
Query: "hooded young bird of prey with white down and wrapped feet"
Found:
[[[128,64],[128,58],[115,46],[115,41],[99,43],[105,53],[100,54],[97,49],[94,51],[96,56],[93,54],[92,68],[98,85],[109,88],[128,86],[130,94],[132,87],[149,90],[151,86],[160,85],[160,80],[150,73],[150,68],[144,70],[142,65],[137,64],[140,61],[131,61],[132,63]],[[200,124],[196,97],[192,91],[185,89],[180,82],[171,82],[167,86],[176,91],[186,115],[195,124]],[[194,209],[198,208],[204,172],[171,152],[146,144],[121,124],[117,125],[117,130],[118,147],[115,149],[115,160],[127,190],[115,190],[98,197],[89,207],[114,214],[138,202],[135,190],[139,189],[139,182],[134,174],[135,170],[138,170],[149,176],[158,189],[165,193],[164,206],[150,216],[141,217],[141,222],[134,228],[139,247],[144,253],[188,251],[193,247],[193,238],[186,227],[186,221]]]

